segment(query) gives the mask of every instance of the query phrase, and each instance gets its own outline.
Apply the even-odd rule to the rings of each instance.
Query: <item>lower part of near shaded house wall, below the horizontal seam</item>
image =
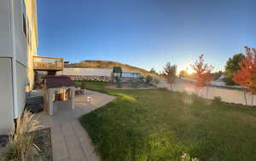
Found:
[[[0,135],[14,128],[12,61],[0,58]]]

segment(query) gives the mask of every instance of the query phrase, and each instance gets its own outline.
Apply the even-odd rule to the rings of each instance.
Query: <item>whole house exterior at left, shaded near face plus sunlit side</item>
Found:
[[[11,129],[14,119],[20,117],[26,105],[26,86],[29,84],[28,90],[33,86],[32,56],[38,49],[36,6],[36,0],[0,1],[0,72],[4,76],[0,79],[0,134]]]

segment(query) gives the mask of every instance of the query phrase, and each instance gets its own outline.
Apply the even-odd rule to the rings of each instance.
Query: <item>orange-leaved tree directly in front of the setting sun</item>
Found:
[[[204,55],[200,55],[199,60],[196,60],[191,67],[195,71],[194,78],[197,89],[207,86],[213,80],[210,76],[213,66],[209,66],[204,62]]]

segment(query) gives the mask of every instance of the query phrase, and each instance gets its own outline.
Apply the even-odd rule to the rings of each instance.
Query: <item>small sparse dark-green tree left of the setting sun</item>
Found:
[[[176,79],[176,72],[177,72],[177,66],[171,65],[171,62],[166,62],[166,65],[164,66],[164,70],[163,70],[163,76],[166,78],[167,83],[171,84],[171,89],[172,89],[172,84],[175,82],[175,79]]]

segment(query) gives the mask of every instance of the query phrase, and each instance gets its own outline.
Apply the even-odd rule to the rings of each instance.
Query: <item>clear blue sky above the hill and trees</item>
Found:
[[[256,48],[255,0],[38,0],[38,55],[185,69],[199,55],[224,69]]]

